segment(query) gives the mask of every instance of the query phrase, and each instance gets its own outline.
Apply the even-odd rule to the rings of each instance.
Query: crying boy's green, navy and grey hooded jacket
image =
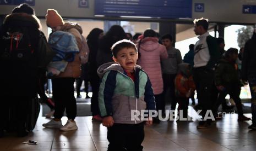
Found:
[[[101,117],[112,116],[115,123],[136,124],[143,121],[132,120],[132,110],[156,109],[149,77],[140,66],[135,66],[135,82],[115,62],[101,65],[97,73],[102,78],[99,90]]]

